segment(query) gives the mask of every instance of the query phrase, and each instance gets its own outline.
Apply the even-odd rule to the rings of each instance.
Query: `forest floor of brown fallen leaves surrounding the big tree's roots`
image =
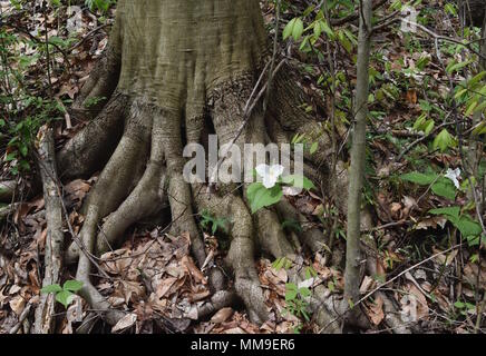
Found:
[[[12,328],[18,333],[27,333],[33,323],[47,236],[42,195],[30,196],[30,191],[36,190],[31,181],[36,170],[33,156],[27,152],[30,151],[29,147],[23,155],[23,146],[19,142],[23,142],[26,136],[35,137],[31,129],[38,123],[37,119],[41,120],[42,115],[58,112],[55,126],[58,148],[84,127],[85,122],[74,120],[64,108],[76,97],[101,55],[114,13],[113,9],[106,16],[85,9],[82,17],[77,19],[66,12],[66,7],[50,9],[47,13],[47,38],[61,50],[52,49],[56,55],[50,59],[52,67],[47,76],[42,49],[46,17],[40,2],[30,1],[30,4],[23,6],[27,11],[21,12],[10,1],[0,1],[2,17],[9,14],[9,23],[2,32],[7,44],[3,42],[0,47],[3,48],[2,53],[11,55],[8,57],[8,66],[12,75],[19,76],[18,80],[10,82],[9,95],[18,98],[26,96],[31,100],[21,110],[6,105],[7,110],[2,109],[0,113],[3,122],[0,136],[0,180],[17,181],[18,189],[12,201],[20,201],[1,217],[0,333],[9,333]],[[458,18],[445,10],[446,2],[422,1],[419,10],[428,19],[427,28],[441,36],[457,38]],[[292,1],[292,4],[284,11],[282,27],[307,8],[305,1]],[[271,29],[275,13],[271,1],[263,1],[262,10]],[[377,18],[382,19],[392,13],[393,10],[386,6],[377,10]],[[78,32],[75,37],[67,31],[66,23],[76,26]],[[357,33],[356,24],[344,23],[342,28],[351,34]],[[325,47],[325,42],[317,42],[315,47]],[[344,47],[346,42],[336,46],[333,51],[337,71],[347,77],[336,91],[334,111],[342,125],[349,127],[352,97],[352,89],[349,88],[352,88],[356,78],[352,61],[356,52],[348,52]],[[290,53],[293,65],[302,71],[300,85],[308,92],[322,96],[328,108],[331,108],[332,96],[323,85],[325,80],[322,80],[329,73],[327,59],[313,52],[303,53],[299,51],[299,46],[291,47]],[[464,51],[456,48],[445,50],[444,57],[447,61],[467,59]],[[425,65],[424,59],[427,59]],[[416,333],[484,332],[486,326],[479,317],[483,315],[485,319],[482,306],[486,290],[486,260],[483,253],[477,243],[460,238],[459,233],[463,230],[451,224],[447,214],[430,212],[431,209],[450,208],[451,205],[470,210],[470,207],[467,208],[469,202],[466,192],[458,191],[454,199],[446,198],[447,194],[430,189],[431,185],[418,187],[400,179],[405,174],[426,171],[427,167],[432,167],[443,175],[446,168],[459,167],[460,152],[457,147],[444,152],[430,149],[435,145],[432,134],[429,136],[412,129],[424,112],[437,117],[436,128],[441,125],[454,126],[454,122],[447,121],[447,116],[443,117],[443,112],[448,109],[443,103],[445,100],[441,93],[449,90],[449,81],[438,61],[434,40],[426,36],[404,36],[397,26],[383,27],[373,38],[370,68],[376,100],[371,107],[368,134],[365,196],[372,221],[363,234],[376,241],[372,258],[376,259],[377,275],[365,276],[360,291],[365,296],[381,286],[381,291],[396,305],[404,323]],[[460,73],[454,77],[455,82],[461,80],[464,77]],[[16,83],[21,86],[16,87]],[[48,108],[42,109],[45,107]],[[9,122],[16,122],[17,130],[3,128]],[[23,127],[19,128],[20,122],[23,122]],[[340,142],[343,151],[349,145],[347,134]],[[17,145],[12,145],[11,140],[16,137]],[[14,156],[16,152],[20,154]],[[461,184],[466,179],[457,178]],[[95,181],[96,176],[62,187],[64,201],[70,214],[69,222],[76,233],[82,225],[79,209]],[[346,217],[337,216],[333,201],[329,192],[313,191],[298,196],[291,202],[321,227],[323,234],[336,236],[331,266],[325,260],[324,251],[315,256],[302,251],[302,268],[311,267],[309,270],[312,270],[308,287],[312,289],[324,285],[329,294],[341,295]],[[4,205],[6,208],[2,209],[10,209],[10,206]],[[333,217],[337,217],[336,224],[329,224]],[[203,225],[204,219],[201,217]],[[474,217],[470,219],[475,220]],[[208,249],[215,251],[216,260],[221,260],[227,241],[218,234],[213,236],[210,226],[205,225],[205,243]],[[127,240],[120,249],[100,257],[100,268],[109,278],[97,271],[96,286],[114,307],[126,313],[126,317],[113,329],[98,323],[94,332],[321,332],[312,315],[290,310],[285,300],[291,288],[288,273],[285,268],[276,268],[273,260],[263,257],[257,260],[257,271],[268,306],[274,312],[273,317],[257,326],[249,322],[244,308],[224,308],[211,318],[200,320],[197,307],[211,297],[207,280],[189,256],[188,238],[169,236],[165,228],[138,225],[127,233]],[[66,236],[69,236],[67,227]],[[74,274],[74,269],[65,268],[62,280],[72,279]],[[368,298],[363,309],[371,322],[371,327],[363,333],[392,333],[386,323],[388,309],[380,297]],[[80,297],[76,297],[67,309],[59,305],[58,313],[57,332],[65,334],[74,333],[80,320],[93,315]]]

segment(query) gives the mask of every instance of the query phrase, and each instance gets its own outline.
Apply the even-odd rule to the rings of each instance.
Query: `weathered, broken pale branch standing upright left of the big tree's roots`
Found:
[[[46,201],[47,238],[45,251],[45,277],[42,286],[58,284],[62,267],[62,206],[56,185],[56,158],[52,129],[42,127],[39,131],[39,169]],[[55,328],[55,295],[41,295],[36,309],[35,334],[50,334]]]

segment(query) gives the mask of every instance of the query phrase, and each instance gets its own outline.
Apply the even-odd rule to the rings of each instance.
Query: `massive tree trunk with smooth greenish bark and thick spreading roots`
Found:
[[[299,236],[302,244],[313,251],[322,248],[322,231],[307,224],[286,200],[251,215],[245,189],[224,185],[208,195],[207,187],[183,178],[184,145],[205,144],[214,132],[222,146],[232,142],[239,130],[236,145],[242,151],[244,144],[284,144],[295,132],[307,134],[322,150],[305,154],[305,175],[325,176],[332,154],[329,138],[321,134],[315,116],[302,109],[305,96],[286,67],[274,78],[266,112],[259,100],[246,118],[246,101],[269,60],[266,42],[257,0],[118,1],[106,53],[74,106],[93,121],[66,145],[58,160],[65,179],[89,176],[104,166],[84,207],[79,240],[69,247],[67,259],[78,259],[77,279],[86,285],[82,294],[95,309],[107,310],[109,323],[120,314],[110,310],[90,284],[90,254],[119,244],[130,225],[158,212],[163,201],[171,206],[172,233],[191,235],[200,266],[206,254],[194,216],[205,209],[232,219],[227,265],[234,271],[235,295],[257,323],[266,320],[269,309],[254,255],[294,257],[295,246],[290,243],[294,239],[288,239],[281,219],[297,217],[304,227]],[[263,83],[256,92],[264,92]],[[94,98],[107,100],[87,108]],[[295,281],[302,277],[293,275]],[[233,294],[224,291],[218,268],[210,269],[208,277],[214,296],[204,310],[214,312],[231,303]],[[318,322],[331,326],[328,332],[337,330],[336,323],[329,323],[330,312],[337,309],[333,300],[319,298],[318,294],[320,301],[312,303]]]

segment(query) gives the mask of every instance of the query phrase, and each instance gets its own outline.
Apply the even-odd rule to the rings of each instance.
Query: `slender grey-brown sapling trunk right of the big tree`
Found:
[[[366,159],[366,126],[368,117],[369,95],[369,59],[371,48],[372,1],[360,3],[360,27],[358,44],[358,81],[356,89],[356,125],[351,148],[351,169],[349,175],[348,196],[348,241],[344,275],[344,303],[353,306],[359,300],[361,248],[360,248],[360,211],[361,190]],[[356,313],[350,313],[348,320],[356,324]]]

